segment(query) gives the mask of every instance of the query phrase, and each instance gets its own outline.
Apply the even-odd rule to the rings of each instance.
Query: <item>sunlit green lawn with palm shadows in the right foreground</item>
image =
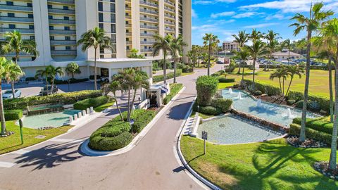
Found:
[[[184,136],[181,149],[190,166],[222,189],[337,189],[338,182],[312,167],[329,160],[329,148],[294,148],[284,139],[239,145],[206,144]]]

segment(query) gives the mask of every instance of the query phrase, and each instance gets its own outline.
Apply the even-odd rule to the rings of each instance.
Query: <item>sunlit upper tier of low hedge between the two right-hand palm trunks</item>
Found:
[[[292,121],[294,124],[301,125],[301,118],[294,118]],[[319,132],[325,132],[332,134],[333,123],[327,120],[327,118],[311,118],[306,119],[306,127],[315,129]]]

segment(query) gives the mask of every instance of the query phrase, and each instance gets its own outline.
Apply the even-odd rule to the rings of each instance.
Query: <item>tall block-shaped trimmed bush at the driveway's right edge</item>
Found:
[[[200,76],[196,81],[197,103],[200,106],[209,106],[212,97],[218,89],[218,79],[211,76]]]

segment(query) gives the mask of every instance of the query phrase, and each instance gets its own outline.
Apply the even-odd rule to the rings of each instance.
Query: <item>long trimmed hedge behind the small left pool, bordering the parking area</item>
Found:
[[[30,96],[19,99],[4,100],[5,110],[27,110],[27,106],[34,106],[45,103],[73,104],[84,99],[102,96],[102,91],[87,90],[69,93],[52,94],[49,96]]]

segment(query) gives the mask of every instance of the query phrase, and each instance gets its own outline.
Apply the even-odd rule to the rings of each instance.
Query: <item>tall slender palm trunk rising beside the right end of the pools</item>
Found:
[[[299,141],[305,141],[305,129],[306,129],[306,110],[308,106],[308,84],[310,82],[310,51],[311,51],[311,30],[308,30],[308,45],[306,49],[306,78],[304,88],[304,101],[303,110],[301,112],[301,134],[299,135]]]

